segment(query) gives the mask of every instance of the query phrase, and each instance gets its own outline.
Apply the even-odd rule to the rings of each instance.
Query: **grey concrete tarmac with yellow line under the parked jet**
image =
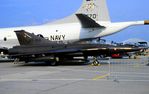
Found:
[[[148,94],[149,67],[130,61],[56,67],[0,63],[0,94]]]

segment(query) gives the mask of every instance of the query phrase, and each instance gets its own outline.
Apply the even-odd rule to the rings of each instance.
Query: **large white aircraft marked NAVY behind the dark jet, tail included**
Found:
[[[62,20],[39,26],[0,29],[0,46],[12,48],[19,45],[14,31],[24,30],[45,37],[50,41],[78,41],[101,38],[117,33],[129,26],[145,25],[149,21],[110,21],[106,0],[83,0],[74,14]]]

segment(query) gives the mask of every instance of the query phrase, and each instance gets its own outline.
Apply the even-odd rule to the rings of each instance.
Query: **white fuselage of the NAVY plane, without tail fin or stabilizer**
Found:
[[[99,23],[99,22],[98,22]],[[82,39],[98,38],[117,33],[132,25],[142,25],[144,21],[109,23],[100,22],[106,28],[82,28],[78,23],[40,25],[17,28],[0,29],[0,43],[2,47],[12,48],[19,45],[14,31],[25,30],[36,35],[42,35],[50,41],[78,41]]]

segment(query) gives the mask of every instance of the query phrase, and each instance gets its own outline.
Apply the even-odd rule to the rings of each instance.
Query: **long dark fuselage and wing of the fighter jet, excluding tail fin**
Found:
[[[22,57],[22,56],[32,56],[32,55],[56,55],[56,56],[69,56],[76,55],[77,53],[82,53],[82,56],[98,56],[98,55],[108,55],[124,52],[139,51],[140,48],[136,47],[117,47],[111,45],[102,44],[72,44],[72,45],[33,45],[33,46],[16,46],[9,49],[9,55],[12,57]],[[79,54],[80,55],[80,54]]]

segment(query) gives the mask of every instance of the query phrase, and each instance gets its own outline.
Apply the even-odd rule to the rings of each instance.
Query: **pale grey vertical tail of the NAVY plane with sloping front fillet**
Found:
[[[110,22],[106,0],[83,0],[81,7],[74,14],[50,24],[78,22],[76,14],[86,14],[93,20],[99,22]]]

